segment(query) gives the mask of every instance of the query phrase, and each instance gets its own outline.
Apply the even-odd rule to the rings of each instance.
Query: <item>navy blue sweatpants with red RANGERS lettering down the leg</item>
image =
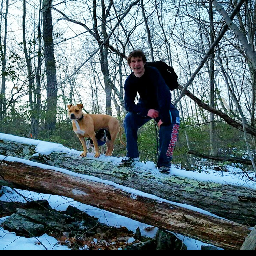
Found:
[[[170,166],[173,150],[177,141],[180,117],[179,111],[171,104],[170,106],[170,124],[162,124],[159,129],[159,157],[157,167]],[[138,151],[138,129],[151,120],[150,117],[143,117],[139,114],[128,112],[124,119],[124,128],[126,134],[127,157],[139,157]]]

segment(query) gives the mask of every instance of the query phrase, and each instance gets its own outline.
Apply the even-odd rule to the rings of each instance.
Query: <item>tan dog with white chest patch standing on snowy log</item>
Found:
[[[95,148],[94,157],[100,156],[99,145],[95,137],[95,132],[97,132],[101,128],[107,129],[111,136],[111,140],[106,141],[106,156],[112,155],[114,150],[114,142],[118,134],[120,142],[124,146],[126,146],[125,143],[122,141],[120,124],[116,118],[110,115],[85,114],[82,112],[82,109],[83,104],[77,104],[76,106],[73,106],[72,104],[68,105],[68,115],[69,119],[72,120],[73,131],[81,141],[84,149],[83,153],[80,155],[81,157],[85,157],[87,154],[87,148],[84,137],[91,137]]]

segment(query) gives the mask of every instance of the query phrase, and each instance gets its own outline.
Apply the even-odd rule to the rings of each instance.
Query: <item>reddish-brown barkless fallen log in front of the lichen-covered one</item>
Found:
[[[239,249],[250,233],[245,225],[204,215],[160,198],[152,199],[140,195],[140,192],[136,194],[135,190],[125,191],[119,185],[109,185],[103,181],[101,183],[83,179],[23,163],[2,161],[0,177],[16,188],[71,197],[81,203],[225,249]]]

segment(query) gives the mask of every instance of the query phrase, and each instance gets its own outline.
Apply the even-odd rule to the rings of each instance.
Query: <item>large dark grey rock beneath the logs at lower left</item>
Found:
[[[65,231],[69,231],[70,236],[76,236],[85,231],[89,235],[95,234],[93,229],[96,229],[98,225],[97,218],[91,217],[75,207],[69,206],[63,212],[53,210],[47,200],[8,205],[9,208],[12,207],[8,210],[9,213],[10,210],[14,213],[4,221],[2,226],[20,236],[41,236],[49,232],[61,234]]]

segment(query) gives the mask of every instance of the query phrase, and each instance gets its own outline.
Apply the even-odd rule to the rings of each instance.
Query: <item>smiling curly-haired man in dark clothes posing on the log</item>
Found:
[[[131,52],[127,63],[132,69],[125,81],[124,119],[127,154],[122,159],[130,163],[139,159],[138,129],[154,118],[159,127],[159,158],[157,167],[162,173],[170,173],[171,160],[180,127],[179,111],[171,103],[171,93],[159,71],[145,66],[146,57],[141,50]],[[135,104],[136,95],[140,95]]]

